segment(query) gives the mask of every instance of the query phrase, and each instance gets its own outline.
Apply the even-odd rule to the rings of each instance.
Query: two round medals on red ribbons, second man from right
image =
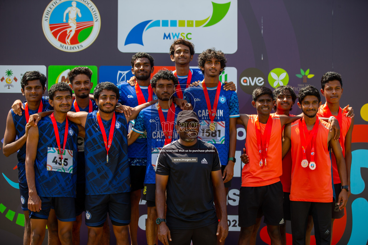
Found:
[[[308,133],[307,125],[305,124],[304,118],[301,118],[299,120],[298,126],[299,126],[299,134],[300,134],[300,143],[301,143],[301,151],[302,151],[302,161],[301,166],[302,167],[308,167],[311,170],[316,169],[316,163],[314,162],[314,156],[315,156],[315,141],[317,137],[318,132],[318,124],[319,119],[318,116],[316,117],[316,122],[314,123],[313,129],[311,133]],[[305,137],[308,136],[307,140],[305,140]],[[311,145],[311,157],[310,157],[310,163],[308,163],[307,160],[307,147],[309,146],[309,143]]]

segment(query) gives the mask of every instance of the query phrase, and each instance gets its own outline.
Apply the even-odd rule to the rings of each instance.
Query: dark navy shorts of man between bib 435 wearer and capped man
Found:
[[[86,226],[102,227],[107,213],[115,226],[130,223],[130,192],[86,195]]]

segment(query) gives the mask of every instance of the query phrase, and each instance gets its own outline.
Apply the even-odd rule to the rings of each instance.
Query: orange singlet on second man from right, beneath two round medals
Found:
[[[314,170],[301,166],[303,156],[298,124],[299,120],[291,123],[293,167],[291,169],[290,201],[332,202],[331,161],[327,143],[330,124],[319,120],[314,143],[314,162],[316,163]],[[306,152],[311,152],[311,144],[308,145]],[[310,162],[310,154],[307,154],[307,161]]]

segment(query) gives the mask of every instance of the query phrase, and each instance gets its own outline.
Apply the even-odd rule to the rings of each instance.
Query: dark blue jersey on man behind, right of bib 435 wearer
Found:
[[[95,100],[91,100],[91,101],[92,101],[92,110],[98,111],[98,105],[96,104]],[[73,101],[70,111],[75,112],[74,101]],[[86,108],[79,107],[79,111],[89,112],[89,105]],[[86,172],[85,172],[85,161],[84,161],[84,138],[81,136],[78,136],[77,164],[78,164],[77,183],[85,183],[86,182]]]

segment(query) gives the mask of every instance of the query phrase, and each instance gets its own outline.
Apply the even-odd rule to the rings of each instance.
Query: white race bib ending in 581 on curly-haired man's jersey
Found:
[[[209,129],[209,120],[199,122],[198,138],[210,144],[225,144],[225,122],[215,122],[215,131]]]

